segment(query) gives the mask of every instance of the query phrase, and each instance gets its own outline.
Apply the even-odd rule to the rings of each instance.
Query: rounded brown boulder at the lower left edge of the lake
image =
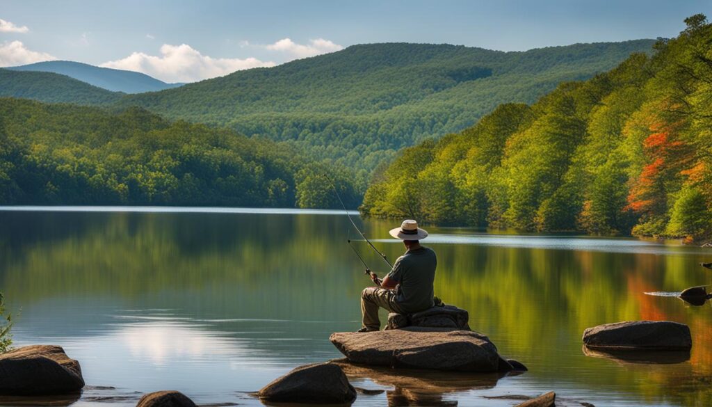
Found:
[[[83,387],[79,362],[70,359],[61,346],[23,346],[0,354],[0,394],[66,394]]]

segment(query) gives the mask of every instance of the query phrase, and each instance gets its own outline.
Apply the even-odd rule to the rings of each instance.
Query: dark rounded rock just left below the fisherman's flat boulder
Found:
[[[351,403],[356,390],[335,364],[300,366],[257,393],[264,401],[284,403]]]

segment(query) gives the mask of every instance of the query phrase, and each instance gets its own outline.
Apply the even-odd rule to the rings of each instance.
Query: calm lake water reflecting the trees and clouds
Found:
[[[387,239],[389,222],[364,225],[391,259],[402,253]],[[345,243],[348,227],[329,211],[0,210],[0,291],[19,311],[16,345],[60,344],[80,361],[90,387],[75,406],[105,397],[133,406],[142,392],[170,388],[197,403],[259,405],[246,392],[295,366],[339,357],[329,334],[360,326],[359,294],[370,281]],[[517,401],[487,397],[550,390],[571,405],[709,405],[709,303],[644,293],[711,283],[712,272],[696,264],[711,261],[712,250],[429,232],[439,257],[436,294],[468,309],[472,328],[530,371],[498,378],[354,370],[355,386],[391,390],[360,395],[355,406],[387,399],[511,406]],[[360,249],[384,274],[366,245]],[[582,353],[585,328],[628,319],[688,324],[689,360]]]

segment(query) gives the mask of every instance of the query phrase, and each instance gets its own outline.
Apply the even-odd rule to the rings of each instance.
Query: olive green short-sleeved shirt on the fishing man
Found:
[[[406,312],[433,306],[433,282],[437,259],[429,247],[408,250],[398,257],[387,277],[398,283],[396,302]]]

